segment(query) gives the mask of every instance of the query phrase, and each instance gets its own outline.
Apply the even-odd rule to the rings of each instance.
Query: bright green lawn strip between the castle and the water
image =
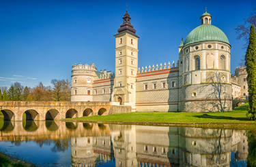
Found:
[[[236,107],[233,111],[217,113],[175,113],[175,112],[136,112],[123,113],[115,115],[77,117],[74,121],[89,122],[123,122],[136,124],[248,124],[255,126],[256,122],[249,121],[246,118],[248,104]],[[68,120],[70,121],[70,119]]]

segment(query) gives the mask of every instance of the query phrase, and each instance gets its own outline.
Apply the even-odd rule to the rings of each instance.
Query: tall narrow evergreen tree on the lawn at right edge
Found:
[[[249,108],[246,114],[248,119],[255,119],[256,112],[256,34],[255,26],[251,26],[249,44],[246,50],[245,65],[248,83],[248,102]]]

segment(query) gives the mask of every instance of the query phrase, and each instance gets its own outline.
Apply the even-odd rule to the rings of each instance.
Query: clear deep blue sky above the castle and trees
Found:
[[[256,1],[77,1],[0,0],[0,87],[18,81],[71,78],[73,64],[96,64],[115,71],[115,37],[126,12],[139,38],[139,67],[177,62],[182,38],[200,25],[207,11],[231,44],[231,72],[246,50],[236,26],[256,8]],[[176,64],[176,63],[175,63]]]

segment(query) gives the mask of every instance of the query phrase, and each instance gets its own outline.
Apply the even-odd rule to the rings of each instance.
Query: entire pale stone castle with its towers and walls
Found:
[[[231,45],[205,12],[181,41],[179,59],[138,68],[138,39],[128,12],[115,35],[115,73],[72,66],[72,101],[111,101],[132,111],[230,111]],[[238,84],[236,81],[234,82]],[[239,85],[238,85],[239,86]],[[239,92],[240,94],[240,92]]]

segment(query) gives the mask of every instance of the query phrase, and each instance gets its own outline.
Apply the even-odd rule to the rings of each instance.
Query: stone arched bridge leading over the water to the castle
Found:
[[[112,105],[111,102],[70,101],[0,101],[0,111],[5,120],[54,120],[91,115],[128,113],[130,106]]]

